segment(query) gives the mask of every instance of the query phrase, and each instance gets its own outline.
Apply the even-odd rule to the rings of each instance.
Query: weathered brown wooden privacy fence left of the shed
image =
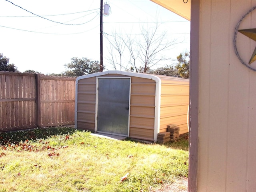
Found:
[[[75,81],[0,72],[0,131],[74,124]]]

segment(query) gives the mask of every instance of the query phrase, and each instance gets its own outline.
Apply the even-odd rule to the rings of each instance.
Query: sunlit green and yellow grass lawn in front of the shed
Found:
[[[0,137],[0,192],[146,192],[188,176],[187,139],[144,144],[67,127]]]

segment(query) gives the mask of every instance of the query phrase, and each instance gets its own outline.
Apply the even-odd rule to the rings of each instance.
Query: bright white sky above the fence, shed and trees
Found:
[[[100,60],[100,0],[10,2],[0,0],[0,53],[9,58],[9,63],[17,66],[20,72],[61,73],[66,70],[64,64],[73,57]],[[141,37],[138,35],[140,26],[154,24],[156,16],[168,40],[182,41],[166,51],[166,57],[175,59],[181,52],[189,51],[190,22],[184,18],[150,0],[105,2],[110,6],[110,14],[103,16],[103,63],[107,70],[113,68],[107,61],[109,43],[106,37],[114,33],[136,34],[134,36],[138,39]],[[171,62],[162,63],[165,64]]]

